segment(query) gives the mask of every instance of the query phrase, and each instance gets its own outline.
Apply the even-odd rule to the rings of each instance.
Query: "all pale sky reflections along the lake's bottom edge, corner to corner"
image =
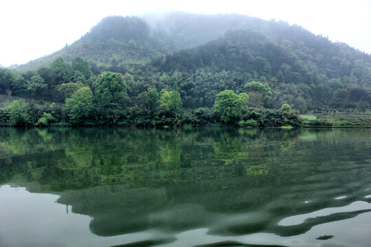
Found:
[[[0,246],[112,246],[172,237],[155,231],[99,237],[89,230],[90,217],[71,213],[70,207],[67,213],[66,206],[56,203],[57,199],[56,195],[30,193],[21,187],[0,187]],[[370,208],[367,202],[352,202],[345,207],[322,209],[292,218],[297,217],[295,219],[300,223],[307,217]],[[271,233],[221,237],[208,234],[207,228],[196,228],[175,235],[177,241],[163,246],[194,246],[229,241],[282,246],[322,246],[326,243],[334,246],[366,247],[365,244],[371,242],[370,222],[371,213],[361,213],[347,220],[313,226],[310,231],[293,237],[280,237]],[[317,240],[324,235],[333,237]]]

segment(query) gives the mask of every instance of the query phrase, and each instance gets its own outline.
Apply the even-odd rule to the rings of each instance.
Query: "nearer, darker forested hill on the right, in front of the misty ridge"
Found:
[[[160,73],[183,73],[179,88],[185,106],[211,107],[218,92],[244,92],[245,83],[251,81],[273,89],[273,98],[260,102],[269,108],[286,102],[305,112],[308,108],[348,108],[359,100],[370,101],[371,56],[300,27],[286,29],[278,36],[227,32],[152,64]],[[289,30],[291,35],[285,36]],[[249,95],[251,106],[258,106],[253,102],[256,95]],[[198,104],[195,99],[202,101]]]

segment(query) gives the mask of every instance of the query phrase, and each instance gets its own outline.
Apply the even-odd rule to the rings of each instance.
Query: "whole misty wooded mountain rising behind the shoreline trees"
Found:
[[[297,25],[238,14],[109,16],[75,43],[19,69],[0,69],[1,94],[56,102],[81,86],[95,93],[103,71],[125,74],[122,114],[130,121],[147,107],[152,89],[179,91],[188,110],[212,109],[225,90],[247,93],[251,108],[287,103],[302,113],[350,113],[371,104],[370,55]],[[152,113],[148,106],[140,114]],[[208,118],[207,110],[199,113]]]

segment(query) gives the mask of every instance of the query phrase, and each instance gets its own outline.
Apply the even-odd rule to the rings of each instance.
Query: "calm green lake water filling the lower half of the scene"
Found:
[[[0,246],[370,246],[370,129],[0,128]]]

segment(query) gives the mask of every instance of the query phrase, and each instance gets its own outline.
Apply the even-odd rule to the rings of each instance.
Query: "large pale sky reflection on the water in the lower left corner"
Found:
[[[0,246],[112,246],[150,239],[143,232],[99,237],[89,230],[91,218],[68,213],[58,196],[30,193],[25,188],[0,187]]]

